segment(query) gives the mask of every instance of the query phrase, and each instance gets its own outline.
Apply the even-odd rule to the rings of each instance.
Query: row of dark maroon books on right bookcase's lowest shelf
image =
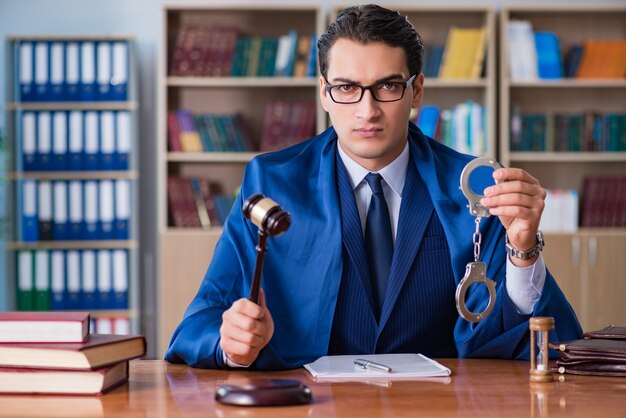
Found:
[[[626,176],[588,176],[583,181],[580,225],[626,226]]]

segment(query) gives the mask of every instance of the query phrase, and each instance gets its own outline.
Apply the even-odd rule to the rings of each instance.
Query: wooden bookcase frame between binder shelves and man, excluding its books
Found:
[[[174,75],[173,54],[181,29],[236,28],[241,36],[280,37],[290,30],[319,35],[324,27],[319,4],[166,5],[158,82],[158,231],[157,353],[162,356],[184,310],[198,290],[211,261],[221,227],[176,227],[168,206],[168,177],[198,177],[234,194],[246,164],[258,154],[246,152],[181,152],[168,147],[167,114],[178,109],[192,114],[238,113],[254,143],[261,141],[265,108],[272,100],[307,100],[315,104],[315,131],[326,128],[318,100],[317,76]],[[211,47],[209,47],[211,48]],[[236,52],[236,50],[235,50]],[[209,59],[210,61],[210,59]],[[304,139],[304,138],[303,138]]]

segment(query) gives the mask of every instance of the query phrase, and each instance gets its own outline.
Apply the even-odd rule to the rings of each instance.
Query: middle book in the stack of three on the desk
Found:
[[[145,354],[141,335],[91,334],[84,343],[0,344],[0,366],[94,370]]]

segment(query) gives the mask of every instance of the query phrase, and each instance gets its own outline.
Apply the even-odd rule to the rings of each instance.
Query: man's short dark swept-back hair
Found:
[[[392,47],[401,47],[406,54],[409,74],[422,71],[422,38],[406,16],[376,4],[351,6],[337,15],[326,32],[317,41],[320,73],[328,73],[328,52],[339,38],[350,39],[367,45],[383,42]]]

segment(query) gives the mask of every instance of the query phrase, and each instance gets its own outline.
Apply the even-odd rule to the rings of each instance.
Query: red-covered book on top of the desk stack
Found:
[[[89,312],[0,312],[0,343],[80,343]]]

